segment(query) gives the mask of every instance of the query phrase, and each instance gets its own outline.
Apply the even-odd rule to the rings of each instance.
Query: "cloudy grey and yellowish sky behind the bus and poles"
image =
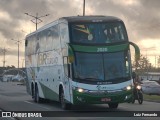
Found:
[[[129,40],[135,42],[142,54],[160,55],[160,0],[86,0],[86,15],[116,16],[126,25]],[[0,0],[0,48],[6,48],[6,65],[17,66],[17,45],[20,44],[20,67],[24,58],[25,35],[35,30],[31,17],[50,14],[38,24],[41,27],[63,16],[82,15],[83,0]],[[0,53],[3,66],[3,53]]]

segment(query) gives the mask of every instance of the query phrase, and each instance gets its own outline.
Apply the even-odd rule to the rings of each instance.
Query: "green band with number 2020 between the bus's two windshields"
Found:
[[[112,45],[112,46],[86,46],[86,45],[73,45],[74,51],[79,52],[118,52],[129,49],[129,44]]]

